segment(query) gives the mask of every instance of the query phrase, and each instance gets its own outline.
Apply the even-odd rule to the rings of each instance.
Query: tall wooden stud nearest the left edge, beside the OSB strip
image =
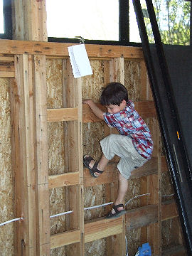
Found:
[[[16,81],[11,87],[12,164],[15,180],[16,255],[36,255],[36,199],[33,145],[31,56],[15,55]]]

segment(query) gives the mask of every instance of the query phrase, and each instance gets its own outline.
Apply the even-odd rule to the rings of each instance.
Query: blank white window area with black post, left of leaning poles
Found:
[[[82,36],[86,43],[130,45],[129,41],[140,42],[132,1],[48,0],[46,10],[48,41],[78,42],[74,38]]]

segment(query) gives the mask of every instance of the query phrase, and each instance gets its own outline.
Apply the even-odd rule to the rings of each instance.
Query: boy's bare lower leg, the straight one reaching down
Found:
[[[127,192],[128,188],[128,181],[127,178],[124,178],[122,174],[119,173],[119,183],[118,183],[118,191],[117,191],[117,198],[114,201],[114,206],[117,206],[124,201],[124,196]],[[123,210],[123,207],[119,207],[118,210]],[[114,214],[115,211],[112,209],[112,214]]]

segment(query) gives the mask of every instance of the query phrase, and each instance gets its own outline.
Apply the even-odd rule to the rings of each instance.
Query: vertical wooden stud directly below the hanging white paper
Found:
[[[70,255],[84,255],[84,198],[83,198],[83,168],[82,168],[82,92],[81,79],[75,80],[69,60],[66,63],[68,80],[65,81],[65,106],[78,108],[78,120],[68,122],[68,171],[79,173],[78,186],[69,188],[69,208],[73,210],[68,228],[79,228],[80,242],[70,246]]]

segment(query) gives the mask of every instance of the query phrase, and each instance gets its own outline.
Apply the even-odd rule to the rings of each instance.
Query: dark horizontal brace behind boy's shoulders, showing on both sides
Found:
[[[153,101],[141,101],[141,102],[134,102],[135,109],[142,118],[146,117],[156,117],[156,109],[154,106]],[[100,109],[103,112],[106,112],[106,109],[104,106],[97,104],[97,107],[100,107]],[[90,109],[89,105],[83,104],[82,105],[82,122],[102,122],[101,119],[97,118],[95,114],[93,114],[92,110]]]

